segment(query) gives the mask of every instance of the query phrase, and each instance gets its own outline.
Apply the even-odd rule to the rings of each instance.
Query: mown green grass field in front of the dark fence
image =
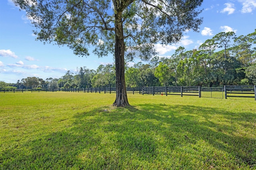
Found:
[[[256,169],[256,101],[0,93],[0,169]]]

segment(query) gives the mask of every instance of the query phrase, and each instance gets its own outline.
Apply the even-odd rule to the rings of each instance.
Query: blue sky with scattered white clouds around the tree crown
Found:
[[[222,31],[247,35],[256,29],[256,0],[204,0],[204,18],[199,32],[189,31],[177,44],[156,44],[160,57],[169,57],[179,47],[196,49]],[[35,41],[34,27],[26,13],[11,0],[0,0],[0,81],[15,83],[29,76],[60,78],[68,70],[84,67],[96,70],[100,64],[114,63],[113,56],[98,58],[94,54],[78,57],[67,47]],[[135,59],[138,63],[140,59]],[[130,63],[132,66],[134,63]]]

